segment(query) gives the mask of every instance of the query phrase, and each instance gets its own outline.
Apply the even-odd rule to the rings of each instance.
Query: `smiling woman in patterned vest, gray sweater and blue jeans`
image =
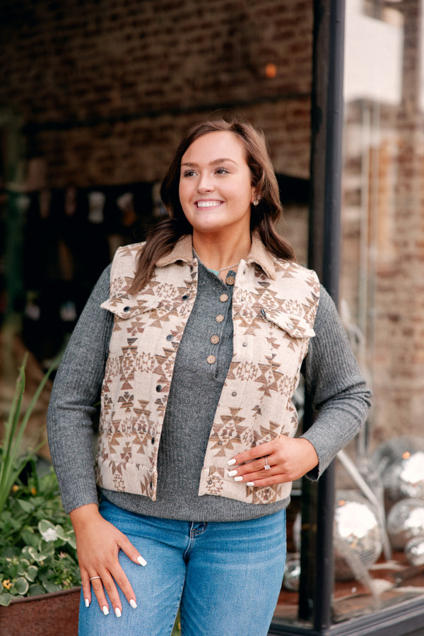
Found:
[[[170,218],[102,274],[49,407],[80,634],[169,635],[180,606],[184,636],[262,636],[290,483],[319,477],[370,392],[329,296],[274,230],[281,204],[260,131],[194,126],[161,195]],[[295,438],[301,366],[318,415]]]

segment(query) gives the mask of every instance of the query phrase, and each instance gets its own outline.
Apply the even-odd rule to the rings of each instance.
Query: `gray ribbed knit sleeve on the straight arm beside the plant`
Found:
[[[98,502],[93,417],[113,327],[113,314],[100,307],[109,298],[109,286],[110,266],[100,276],[73,330],[47,412],[49,447],[66,512]]]

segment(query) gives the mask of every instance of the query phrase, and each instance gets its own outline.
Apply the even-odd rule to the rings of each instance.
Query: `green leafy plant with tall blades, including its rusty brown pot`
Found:
[[[61,505],[52,467],[40,474],[33,454],[20,454],[25,427],[49,372],[22,413],[25,363],[26,357],[0,441],[0,632],[3,636],[22,634],[31,625],[31,634],[47,636],[51,616],[51,633],[71,635],[76,633],[81,584],[71,521]],[[65,601],[60,598],[64,594]],[[40,613],[39,631],[37,611],[29,608],[30,601]],[[70,601],[71,610],[64,611]],[[55,610],[41,608],[40,603],[45,602],[53,602]],[[30,618],[25,616],[27,606]],[[61,616],[66,620],[64,630],[58,623]]]

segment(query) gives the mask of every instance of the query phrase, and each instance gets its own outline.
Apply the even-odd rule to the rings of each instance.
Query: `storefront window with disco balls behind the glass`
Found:
[[[391,625],[415,635],[424,602],[422,0],[348,0],[344,52],[339,311],[374,398],[365,428],[334,462],[325,633],[383,634]],[[303,553],[314,559],[320,549],[300,544],[301,526],[314,519],[301,514],[302,488],[289,516],[276,634],[316,628],[313,610],[301,620],[298,594]]]

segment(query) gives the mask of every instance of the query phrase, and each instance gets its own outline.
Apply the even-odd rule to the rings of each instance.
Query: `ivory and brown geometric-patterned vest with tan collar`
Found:
[[[194,305],[192,237],[160,259],[148,285],[129,295],[141,244],[117,250],[110,298],[114,314],[102,385],[98,485],[155,500],[157,458],[175,355]],[[228,477],[227,461],[280,435],[293,436],[293,394],[319,301],[313,271],[276,259],[252,237],[232,296],[233,356],[204,457],[199,495],[264,504],[285,499],[290,483],[249,487]]]

